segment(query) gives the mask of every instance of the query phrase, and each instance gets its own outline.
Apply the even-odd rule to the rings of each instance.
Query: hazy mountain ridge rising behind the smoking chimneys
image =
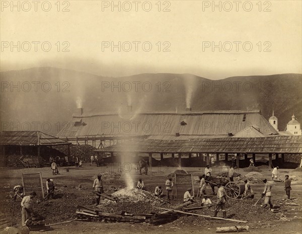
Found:
[[[122,112],[132,105],[137,112],[180,111],[187,106],[196,111],[260,109],[266,119],[274,109],[281,131],[293,113],[302,123],[301,87],[302,75],[293,73],[209,80],[172,73],[106,77],[53,67],[4,71],[1,130],[29,130],[29,122],[30,130],[56,134],[77,105],[84,112]]]

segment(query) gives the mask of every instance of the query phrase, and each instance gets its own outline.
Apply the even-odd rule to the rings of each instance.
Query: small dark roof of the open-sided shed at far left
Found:
[[[0,145],[62,145],[71,144],[40,131],[3,131]]]

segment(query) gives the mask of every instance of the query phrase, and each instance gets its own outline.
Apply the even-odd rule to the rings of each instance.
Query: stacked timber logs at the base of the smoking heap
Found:
[[[171,222],[177,219],[177,214],[131,214],[125,211],[120,213],[108,213],[101,210],[78,205],[76,211],[78,220],[94,221],[94,222],[147,222],[154,225],[159,225]]]

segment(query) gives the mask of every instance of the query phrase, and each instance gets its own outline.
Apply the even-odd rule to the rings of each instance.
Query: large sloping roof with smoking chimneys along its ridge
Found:
[[[181,124],[181,123],[186,124]],[[150,136],[154,139],[227,137],[250,126],[264,134],[278,135],[260,110],[221,110],[183,112],[126,112],[74,114],[57,137],[118,137]],[[151,137],[152,136],[152,137]]]

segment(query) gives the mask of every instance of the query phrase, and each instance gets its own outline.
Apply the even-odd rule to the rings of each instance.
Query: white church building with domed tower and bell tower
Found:
[[[278,130],[278,118],[273,115],[268,119],[269,123],[277,130]],[[292,135],[292,136],[301,136],[302,130],[300,123],[296,120],[294,114],[291,116],[291,120],[286,125],[285,131],[279,131],[280,135]]]

